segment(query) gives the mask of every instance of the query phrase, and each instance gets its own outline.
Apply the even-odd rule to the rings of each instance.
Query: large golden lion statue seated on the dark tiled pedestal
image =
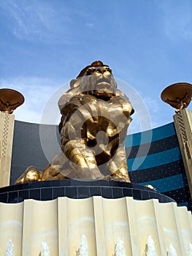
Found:
[[[130,182],[124,140],[134,110],[126,95],[117,89],[112,70],[101,61],[94,61],[82,69],[70,86],[58,101],[62,153],[39,172],[40,180],[90,178]],[[27,174],[26,170],[17,183],[25,182]]]

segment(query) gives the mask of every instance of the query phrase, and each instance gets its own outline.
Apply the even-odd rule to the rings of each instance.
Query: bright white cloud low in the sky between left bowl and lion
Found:
[[[55,124],[58,120],[51,118],[50,113],[45,115],[45,105],[50,104],[52,113],[58,117],[58,99],[69,89],[69,84],[61,86],[57,81],[47,78],[19,77],[10,80],[1,79],[0,88],[15,89],[25,97],[23,105],[14,112],[16,120],[41,123],[44,115],[45,118],[47,117],[47,120],[44,118],[44,123]]]

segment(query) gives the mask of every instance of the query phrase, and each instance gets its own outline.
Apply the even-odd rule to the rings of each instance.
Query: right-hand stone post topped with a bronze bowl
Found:
[[[192,197],[192,111],[187,110],[191,102],[192,85],[190,83],[174,83],[161,93],[161,99],[175,110],[174,126],[180,144],[185,173]]]

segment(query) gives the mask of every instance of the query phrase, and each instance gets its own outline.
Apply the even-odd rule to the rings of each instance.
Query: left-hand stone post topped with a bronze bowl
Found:
[[[15,108],[22,105],[24,97],[12,89],[0,89],[0,187],[9,186]]]

